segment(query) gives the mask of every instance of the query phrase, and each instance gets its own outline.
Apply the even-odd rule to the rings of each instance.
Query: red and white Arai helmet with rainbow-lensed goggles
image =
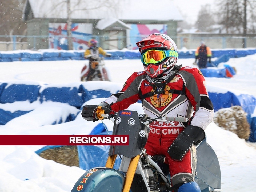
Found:
[[[168,35],[154,33],[136,44],[149,77],[163,76],[177,63],[177,46]]]

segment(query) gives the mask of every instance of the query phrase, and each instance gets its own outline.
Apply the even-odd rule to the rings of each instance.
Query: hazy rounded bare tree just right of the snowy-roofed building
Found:
[[[201,31],[211,32],[212,26],[215,24],[210,8],[209,4],[202,5],[198,13],[195,26]]]

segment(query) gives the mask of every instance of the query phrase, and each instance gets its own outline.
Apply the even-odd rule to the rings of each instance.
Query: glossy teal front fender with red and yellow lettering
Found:
[[[95,167],[86,171],[75,183],[71,192],[121,192],[125,174],[106,167]]]

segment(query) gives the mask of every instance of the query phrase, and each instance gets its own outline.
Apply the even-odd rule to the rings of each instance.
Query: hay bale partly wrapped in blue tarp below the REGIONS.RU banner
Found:
[[[46,149],[39,156],[70,167],[79,167],[77,146],[62,146],[54,149]]]

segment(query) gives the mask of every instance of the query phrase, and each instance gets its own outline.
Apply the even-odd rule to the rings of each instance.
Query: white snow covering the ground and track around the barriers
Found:
[[[87,61],[38,61],[1,62],[0,81],[35,81],[46,84],[66,84],[78,82],[82,67]],[[196,67],[194,59],[179,59],[183,66]],[[122,87],[134,71],[142,71],[139,60],[106,60],[111,81]],[[235,67],[233,78],[206,78],[208,90],[233,90],[256,97],[256,55],[231,58],[227,64]],[[99,86],[101,82],[85,82],[85,85]],[[103,98],[86,103],[98,104]],[[24,107],[25,102],[15,102]],[[1,106],[0,106],[1,107]],[[11,106],[9,106],[11,107]],[[34,103],[34,110],[0,126],[2,134],[89,134],[98,122],[88,122],[78,115],[74,121],[48,125],[49,118],[59,118],[61,109],[69,109],[61,103]],[[141,104],[129,108],[143,113]],[[254,112],[254,114],[256,114]],[[104,120],[107,128],[112,123]],[[254,192],[256,181],[256,145],[239,139],[211,123],[207,129],[207,142],[215,150],[221,166],[223,192]],[[1,192],[64,192],[70,191],[77,179],[85,172],[78,167],[69,167],[39,157],[34,151],[43,146],[0,146],[0,191]]]

